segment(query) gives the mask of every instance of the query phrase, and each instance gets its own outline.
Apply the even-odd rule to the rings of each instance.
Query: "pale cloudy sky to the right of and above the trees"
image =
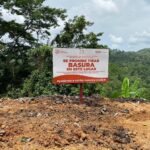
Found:
[[[150,47],[150,0],[46,0],[46,5],[65,8],[69,18],[85,15],[94,22],[89,31],[104,32],[101,42],[110,48]]]

